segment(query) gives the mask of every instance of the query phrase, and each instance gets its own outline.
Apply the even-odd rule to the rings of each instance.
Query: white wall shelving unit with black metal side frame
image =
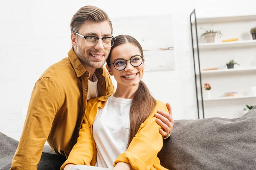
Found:
[[[215,43],[201,43],[199,42],[198,35],[200,32],[200,26],[207,28],[206,26],[215,24],[214,30],[224,29],[226,38],[238,38],[237,41],[232,42],[220,42],[215,41]],[[218,104],[221,105],[219,108],[225,108],[224,104],[221,102],[223,100],[233,101],[234,105],[231,107],[240,108],[244,106],[244,102],[255,101],[255,95],[236,96],[236,97],[225,97],[224,93],[226,91],[241,91],[242,87],[239,89],[239,85],[248,84],[249,87],[256,86],[256,40],[251,40],[252,38],[248,36],[250,33],[250,28],[256,26],[256,14],[255,15],[243,15],[243,16],[227,16],[227,17],[196,17],[195,9],[190,14],[190,26],[191,26],[191,37],[192,37],[192,52],[193,52],[193,63],[194,63],[194,73],[195,73],[195,90],[196,99],[198,107],[198,119],[205,118],[205,109],[209,111],[208,108],[211,106],[212,110],[218,109]],[[242,26],[242,27],[241,27]],[[242,28],[245,28],[242,29]],[[194,30],[192,28],[195,28]],[[222,30],[221,30],[222,31]],[[246,35],[247,34],[247,35]],[[247,36],[247,37],[246,37]],[[218,53],[218,51],[221,51]],[[236,51],[236,52],[233,52]],[[242,51],[242,52],[241,52]],[[249,51],[249,52],[248,52]],[[239,56],[241,54],[241,57]],[[253,54],[253,55],[252,55]],[[201,55],[203,57],[201,57]],[[247,62],[247,57],[253,59],[250,64],[246,66],[241,65],[243,68],[233,68],[233,69],[223,69],[222,66],[233,59],[236,56],[236,60]],[[254,57],[255,56],[255,57]],[[221,60],[221,61],[218,61]],[[203,65],[202,62],[205,64]],[[213,63],[212,63],[213,62]],[[202,67],[203,66],[203,67]],[[218,67],[218,70],[207,70],[203,71],[203,68],[214,68]],[[255,74],[255,76],[253,76]],[[249,78],[248,78],[249,77]],[[204,81],[202,80],[204,79]],[[217,80],[216,82],[214,80]],[[203,97],[203,82],[206,83],[207,80],[211,80],[214,84],[215,92],[214,96],[209,99],[204,99]],[[240,83],[236,85],[236,81]],[[250,83],[252,81],[253,83]],[[211,84],[211,83],[210,83]],[[218,89],[216,90],[218,86]],[[248,88],[248,87],[247,87]],[[212,90],[211,90],[212,91]],[[255,99],[255,100],[254,100]],[[211,103],[212,101],[216,101]],[[220,102],[218,102],[220,101]],[[239,102],[241,101],[241,103]],[[204,103],[204,102],[207,102]],[[236,103],[236,104],[235,104]],[[243,104],[242,104],[243,103]],[[206,105],[204,105],[206,104]],[[215,106],[217,105],[217,106]],[[239,106],[236,106],[239,105]],[[200,110],[201,108],[201,110]],[[226,109],[226,108],[225,108]],[[200,114],[200,111],[202,114]],[[212,110],[210,111],[212,113]],[[233,110],[234,111],[234,110]],[[214,111],[213,111],[214,113]]]

